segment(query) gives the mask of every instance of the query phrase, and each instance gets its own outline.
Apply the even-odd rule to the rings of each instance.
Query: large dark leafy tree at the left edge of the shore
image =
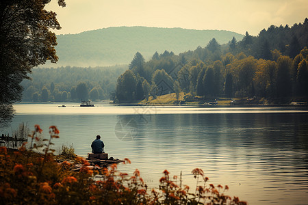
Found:
[[[31,68],[47,60],[57,61],[55,33],[49,29],[60,29],[54,12],[44,6],[51,0],[0,1],[0,107],[12,109],[10,104],[21,100],[23,79]],[[65,6],[64,0],[58,0]],[[6,116],[0,113],[1,120]],[[9,118],[10,120],[12,118]]]

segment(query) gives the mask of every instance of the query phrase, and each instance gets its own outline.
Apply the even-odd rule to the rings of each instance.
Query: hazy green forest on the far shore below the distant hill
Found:
[[[24,80],[23,101],[65,102],[109,99],[116,79],[127,66],[96,68],[35,68],[31,81]]]

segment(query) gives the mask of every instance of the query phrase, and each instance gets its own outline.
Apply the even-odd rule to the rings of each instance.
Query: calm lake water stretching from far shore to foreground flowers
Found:
[[[149,187],[157,187],[168,169],[182,172],[192,191],[191,171],[198,167],[209,183],[228,184],[228,195],[249,204],[308,204],[307,109],[96,105],[17,104],[12,128],[2,133],[27,122],[30,128],[40,124],[48,137],[49,126],[56,125],[55,146],[73,143],[81,156],[101,135],[109,156],[131,160],[118,169],[140,169]]]

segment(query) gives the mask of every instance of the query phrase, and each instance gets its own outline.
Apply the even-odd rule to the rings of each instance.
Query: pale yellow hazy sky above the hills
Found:
[[[308,18],[307,0],[66,0],[47,10],[57,13],[57,34],[119,26],[218,29],[257,36],[270,25],[290,25]]]

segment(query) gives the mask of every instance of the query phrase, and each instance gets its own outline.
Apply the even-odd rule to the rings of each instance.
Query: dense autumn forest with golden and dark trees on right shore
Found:
[[[154,53],[145,61],[136,53],[118,77],[115,102],[185,92],[203,98],[264,98],[266,102],[306,100],[308,96],[308,19],[292,27],[271,25],[258,36],[248,32],[220,45],[175,55]]]

